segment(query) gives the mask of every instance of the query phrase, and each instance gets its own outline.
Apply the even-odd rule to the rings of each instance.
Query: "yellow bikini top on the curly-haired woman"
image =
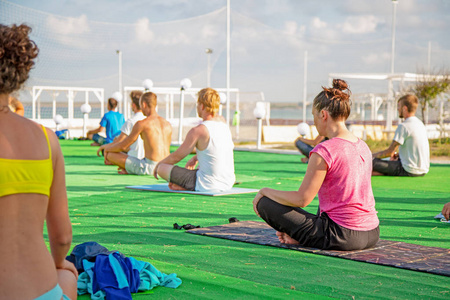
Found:
[[[0,158],[0,197],[13,194],[50,196],[53,181],[52,149],[45,127],[49,158],[41,160]]]

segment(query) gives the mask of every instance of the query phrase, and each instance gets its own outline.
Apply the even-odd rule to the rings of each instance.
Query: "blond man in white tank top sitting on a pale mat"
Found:
[[[197,113],[203,122],[188,132],[175,152],[158,163],[153,171],[156,179],[161,176],[174,190],[219,192],[233,187],[234,144],[228,125],[218,115],[219,105],[217,91],[205,88],[198,93]],[[175,166],[194,149],[197,154],[185,168]]]

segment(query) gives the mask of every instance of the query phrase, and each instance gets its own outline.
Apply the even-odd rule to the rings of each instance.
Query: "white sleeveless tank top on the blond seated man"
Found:
[[[202,124],[208,129],[209,143],[205,150],[197,149],[199,167],[195,190],[229,190],[236,180],[230,129],[223,122],[204,121]]]

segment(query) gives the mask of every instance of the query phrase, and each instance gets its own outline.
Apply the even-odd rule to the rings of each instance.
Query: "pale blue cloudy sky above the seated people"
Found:
[[[450,1],[399,0],[396,73],[450,70]],[[329,73],[388,73],[391,0],[231,0],[231,87],[243,98],[308,101]],[[0,0],[0,23],[26,22],[40,48],[28,85],[226,87],[226,0]],[[431,46],[429,48],[429,45]],[[430,65],[428,65],[430,51]],[[305,65],[305,51],[307,64]],[[348,80],[353,93],[385,93],[386,82]]]

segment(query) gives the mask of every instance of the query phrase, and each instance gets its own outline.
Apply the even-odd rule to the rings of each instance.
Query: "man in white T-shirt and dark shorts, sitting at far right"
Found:
[[[430,145],[427,129],[416,117],[418,105],[415,95],[405,95],[398,100],[398,114],[405,121],[398,125],[389,148],[372,155],[373,176],[417,177],[428,173]],[[382,160],[383,157],[390,157],[390,160]]]

